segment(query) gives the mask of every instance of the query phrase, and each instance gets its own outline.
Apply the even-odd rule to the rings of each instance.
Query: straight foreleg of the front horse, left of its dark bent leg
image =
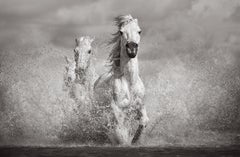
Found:
[[[117,120],[115,128],[117,141],[119,144],[129,145],[129,132],[124,125],[126,115],[115,103],[112,104],[112,109]]]

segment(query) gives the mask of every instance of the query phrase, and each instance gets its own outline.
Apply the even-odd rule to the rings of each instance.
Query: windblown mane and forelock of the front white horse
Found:
[[[108,56],[108,61],[111,66],[110,72],[112,72],[116,67],[120,66],[121,34],[119,30],[132,20],[133,17],[131,15],[120,15],[114,18],[114,22],[118,27],[118,31],[112,34],[113,38],[108,43],[109,45],[113,45],[112,50]]]

